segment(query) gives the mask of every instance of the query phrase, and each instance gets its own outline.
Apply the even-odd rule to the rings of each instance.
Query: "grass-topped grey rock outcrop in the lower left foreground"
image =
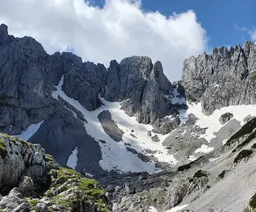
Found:
[[[0,211],[108,212],[95,180],[59,164],[40,145],[0,134]]]

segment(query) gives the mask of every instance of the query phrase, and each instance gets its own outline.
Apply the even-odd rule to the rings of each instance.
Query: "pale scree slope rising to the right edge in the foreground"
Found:
[[[174,171],[130,175],[119,180],[119,189],[109,184],[113,197],[121,197],[114,211],[146,212],[147,206],[157,209],[152,212],[175,206],[182,212],[255,211],[255,122],[246,123],[226,145]]]

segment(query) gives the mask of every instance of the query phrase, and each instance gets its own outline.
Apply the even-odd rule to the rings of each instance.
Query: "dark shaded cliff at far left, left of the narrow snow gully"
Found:
[[[6,37],[7,28],[1,28],[1,37]],[[55,58],[49,59],[42,45],[31,37],[1,38],[0,55],[1,132],[20,134],[55,110],[47,94],[53,83],[49,73],[55,71],[51,66]]]

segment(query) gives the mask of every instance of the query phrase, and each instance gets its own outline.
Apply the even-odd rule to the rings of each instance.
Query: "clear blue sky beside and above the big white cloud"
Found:
[[[104,0],[94,0],[103,6]],[[256,0],[142,0],[143,11],[159,11],[167,17],[173,12],[193,10],[207,32],[209,47],[243,45],[256,30]]]

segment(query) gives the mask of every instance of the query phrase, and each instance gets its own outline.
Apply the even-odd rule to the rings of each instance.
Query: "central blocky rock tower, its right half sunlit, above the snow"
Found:
[[[152,64],[148,57],[125,58],[118,65],[110,63],[104,97],[122,101],[121,109],[136,115],[139,123],[157,123],[173,113],[170,99],[173,87],[163,74],[160,62]]]

